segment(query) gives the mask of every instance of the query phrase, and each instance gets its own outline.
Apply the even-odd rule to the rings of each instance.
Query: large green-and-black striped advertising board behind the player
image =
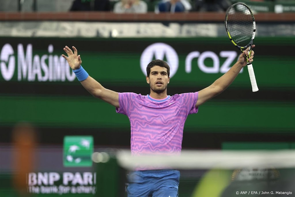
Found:
[[[253,67],[259,91],[251,91],[245,67],[227,90],[187,118],[185,131],[293,133],[294,41],[255,39]],[[29,121],[49,128],[128,131],[126,116],[92,97],[78,82],[61,56],[65,45],[78,49],[84,69],[104,87],[142,95],[149,94],[145,69],[153,59],[168,62],[168,95],[173,95],[209,86],[240,55],[227,38],[1,38],[1,126]]]

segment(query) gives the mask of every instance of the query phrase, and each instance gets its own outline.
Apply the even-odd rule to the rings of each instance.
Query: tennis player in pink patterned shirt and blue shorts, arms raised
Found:
[[[252,46],[254,48],[255,45]],[[213,84],[199,92],[167,95],[170,68],[165,61],[154,60],[147,66],[146,82],[150,95],[132,92],[118,93],[104,88],[81,66],[77,49],[65,46],[62,55],[83,87],[94,97],[116,107],[117,113],[127,115],[131,125],[131,154],[180,154],[183,127],[189,114],[197,113],[198,107],[224,91],[247,65],[245,50],[232,68]],[[252,51],[249,62],[253,62]],[[163,169],[164,168],[164,169]],[[180,173],[165,167],[139,166],[129,173],[128,197],[177,197]]]

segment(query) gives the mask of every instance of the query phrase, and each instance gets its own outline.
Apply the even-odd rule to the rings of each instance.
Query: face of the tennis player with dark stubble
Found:
[[[150,76],[147,76],[146,79],[152,91],[162,93],[167,89],[170,77],[168,77],[166,68],[154,66],[150,69]]]

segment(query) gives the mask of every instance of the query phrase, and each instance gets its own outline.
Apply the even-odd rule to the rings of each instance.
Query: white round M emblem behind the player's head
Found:
[[[178,69],[178,55],[176,51],[165,43],[154,43],[145,48],[140,57],[140,67],[145,76],[148,64],[155,59],[166,59],[170,67],[170,78],[173,77]]]

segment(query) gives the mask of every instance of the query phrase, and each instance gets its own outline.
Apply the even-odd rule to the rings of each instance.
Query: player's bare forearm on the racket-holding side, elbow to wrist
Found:
[[[242,68],[243,66],[240,63],[235,63],[229,71],[213,83],[213,86],[217,87],[220,92],[224,91],[235,80]]]

